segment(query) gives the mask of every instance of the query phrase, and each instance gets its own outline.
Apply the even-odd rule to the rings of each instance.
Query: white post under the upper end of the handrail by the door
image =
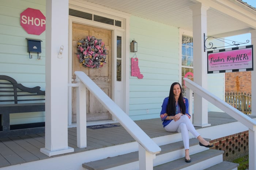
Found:
[[[77,147],[87,147],[86,134],[86,87],[78,78],[76,79],[76,129],[77,129]]]

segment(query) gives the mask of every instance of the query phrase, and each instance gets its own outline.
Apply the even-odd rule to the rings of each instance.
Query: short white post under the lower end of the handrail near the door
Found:
[[[155,154],[150,154],[139,144],[139,170],[153,170],[153,159]]]

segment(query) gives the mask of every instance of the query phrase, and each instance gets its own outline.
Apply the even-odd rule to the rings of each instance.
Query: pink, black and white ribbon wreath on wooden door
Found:
[[[76,53],[79,63],[84,67],[99,68],[106,64],[107,49],[102,39],[94,36],[87,36],[78,41],[78,53]]]

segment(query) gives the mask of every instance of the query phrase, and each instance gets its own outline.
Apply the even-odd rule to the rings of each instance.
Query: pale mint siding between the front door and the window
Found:
[[[136,56],[144,77],[130,74],[129,116],[133,120],[158,118],[170,85],[179,80],[178,28],[132,16],[130,39],[138,42]]]

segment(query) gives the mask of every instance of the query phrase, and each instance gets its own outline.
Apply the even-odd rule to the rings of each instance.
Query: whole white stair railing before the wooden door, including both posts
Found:
[[[129,116],[116,104],[104,91],[101,90],[84,72],[75,71],[76,77],[79,79],[78,87],[76,87],[76,103],[77,103],[77,142],[78,147],[87,146],[86,134],[86,88],[108,109],[108,111],[118,120],[125,130],[139,144],[139,169],[153,170],[153,159],[161,148],[150,138]]]

